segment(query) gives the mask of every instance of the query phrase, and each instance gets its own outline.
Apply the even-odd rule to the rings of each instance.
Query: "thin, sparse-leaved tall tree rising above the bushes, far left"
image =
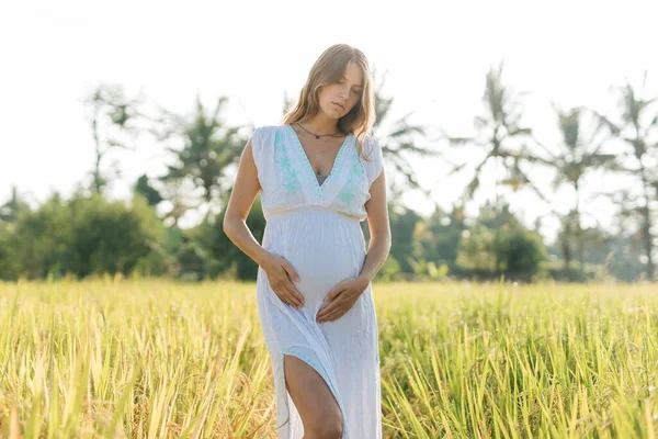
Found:
[[[94,167],[91,172],[91,189],[101,193],[112,178],[120,176],[117,164],[111,171],[104,171],[102,162],[116,149],[135,150],[138,123],[143,119],[143,98],[128,99],[122,86],[98,86],[86,99],[84,105],[91,112],[90,123],[94,140]]]

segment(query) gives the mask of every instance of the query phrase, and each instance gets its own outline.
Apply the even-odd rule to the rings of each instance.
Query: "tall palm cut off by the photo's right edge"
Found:
[[[621,158],[625,165],[625,170],[635,176],[642,187],[642,196],[638,210],[642,214],[640,235],[647,264],[646,272],[649,280],[654,280],[654,235],[653,210],[654,201],[653,190],[658,185],[658,177],[651,169],[651,155],[658,150],[658,143],[655,143],[653,135],[658,128],[658,113],[654,109],[654,103],[658,97],[645,98],[647,74],[645,71],[642,88],[637,89],[628,80],[623,87],[614,87],[619,101],[617,114],[615,119],[594,113],[598,116],[601,126],[608,127],[611,139],[619,139],[626,146],[627,153],[622,154]]]

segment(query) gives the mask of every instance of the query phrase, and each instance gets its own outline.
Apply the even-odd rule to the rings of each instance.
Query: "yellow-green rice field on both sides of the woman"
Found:
[[[657,437],[657,285],[374,291],[385,438]],[[275,439],[254,294],[0,283],[0,435]]]

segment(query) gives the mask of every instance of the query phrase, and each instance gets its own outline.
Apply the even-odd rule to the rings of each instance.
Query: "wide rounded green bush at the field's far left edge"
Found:
[[[5,239],[22,277],[83,278],[128,274],[136,268],[161,274],[163,234],[164,227],[140,195],[129,206],[101,195],[68,202],[54,195],[38,210],[21,214]]]

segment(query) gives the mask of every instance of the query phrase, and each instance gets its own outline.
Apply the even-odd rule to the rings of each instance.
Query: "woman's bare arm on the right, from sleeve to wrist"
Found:
[[[365,203],[370,245],[359,278],[366,283],[372,281],[386,261],[390,251],[390,224],[386,202],[386,176],[384,168],[371,185],[371,198]]]

